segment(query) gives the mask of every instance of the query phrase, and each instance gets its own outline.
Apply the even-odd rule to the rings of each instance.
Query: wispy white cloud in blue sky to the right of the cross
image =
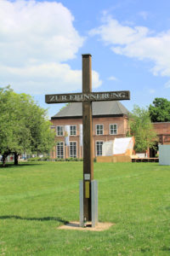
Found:
[[[90,34],[99,35],[118,55],[152,61],[154,75],[170,76],[170,30],[156,34],[145,26],[123,26],[107,17],[104,24]]]

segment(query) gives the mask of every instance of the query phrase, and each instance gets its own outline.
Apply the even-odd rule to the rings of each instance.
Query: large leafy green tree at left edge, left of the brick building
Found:
[[[3,166],[8,154],[18,164],[21,153],[47,153],[54,146],[47,112],[31,96],[17,94],[10,87],[0,88],[0,154]]]

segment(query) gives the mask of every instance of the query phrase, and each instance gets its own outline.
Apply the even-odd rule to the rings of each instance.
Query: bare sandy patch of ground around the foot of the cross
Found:
[[[104,230],[109,230],[113,223],[98,223],[95,227],[88,226],[90,224],[87,223],[86,228],[82,228],[80,226],[80,223],[77,221],[70,222],[68,224],[65,224],[63,226],[59,226],[58,230],[81,230],[81,231],[104,231]]]

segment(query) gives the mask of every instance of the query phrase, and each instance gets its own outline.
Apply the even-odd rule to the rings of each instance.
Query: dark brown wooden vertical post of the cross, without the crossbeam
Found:
[[[82,93],[92,92],[91,55],[82,55]],[[92,220],[91,181],[94,179],[92,102],[82,102],[83,125],[83,218]]]

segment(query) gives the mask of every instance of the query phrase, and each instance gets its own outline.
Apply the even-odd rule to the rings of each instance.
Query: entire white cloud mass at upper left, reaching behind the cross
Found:
[[[84,41],[73,20],[62,3],[0,0],[0,85],[32,94],[82,88],[81,70],[64,63]]]

